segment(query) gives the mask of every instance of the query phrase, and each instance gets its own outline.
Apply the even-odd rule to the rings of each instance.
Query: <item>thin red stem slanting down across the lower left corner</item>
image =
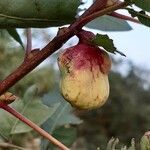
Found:
[[[61,150],[69,150],[69,148],[67,148],[64,144],[59,142],[57,139],[55,139],[53,136],[48,134],[42,128],[37,126],[35,123],[33,123],[32,121],[30,121],[29,119],[24,117],[22,114],[18,113],[15,109],[11,108],[10,106],[8,106],[8,105],[6,105],[6,104],[4,104],[2,102],[0,102],[0,107],[2,109],[6,110],[7,112],[9,112],[10,114],[12,114],[13,116],[15,116],[16,118],[18,118],[20,121],[22,121],[25,124],[27,124],[28,126],[30,126],[32,129],[37,131],[40,135],[42,135],[43,137],[48,139],[50,142],[52,142],[53,144],[58,146]]]

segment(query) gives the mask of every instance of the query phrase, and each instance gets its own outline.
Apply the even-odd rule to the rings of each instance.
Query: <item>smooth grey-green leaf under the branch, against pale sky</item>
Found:
[[[132,29],[127,21],[111,16],[99,17],[88,23],[86,27],[102,31],[129,31]]]

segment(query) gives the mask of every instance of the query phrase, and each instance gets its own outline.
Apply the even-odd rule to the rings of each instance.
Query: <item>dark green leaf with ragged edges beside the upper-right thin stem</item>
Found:
[[[150,27],[150,16],[148,16],[144,11],[137,12],[133,9],[127,8],[128,12],[132,15],[132,17],[138,17],[139,21]]]

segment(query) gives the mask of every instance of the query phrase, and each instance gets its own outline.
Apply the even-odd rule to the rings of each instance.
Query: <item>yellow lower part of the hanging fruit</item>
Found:
[[[74,78],[64,77],[60,82],[64,98],[80,109],[102,106],[109,96],[108,76],[100,71],[76,71]]]

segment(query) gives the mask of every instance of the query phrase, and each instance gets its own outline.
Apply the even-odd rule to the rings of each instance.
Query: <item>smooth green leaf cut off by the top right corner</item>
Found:
[[[145,11],[150,12],[150,0],[132,0],[133,3]]]

